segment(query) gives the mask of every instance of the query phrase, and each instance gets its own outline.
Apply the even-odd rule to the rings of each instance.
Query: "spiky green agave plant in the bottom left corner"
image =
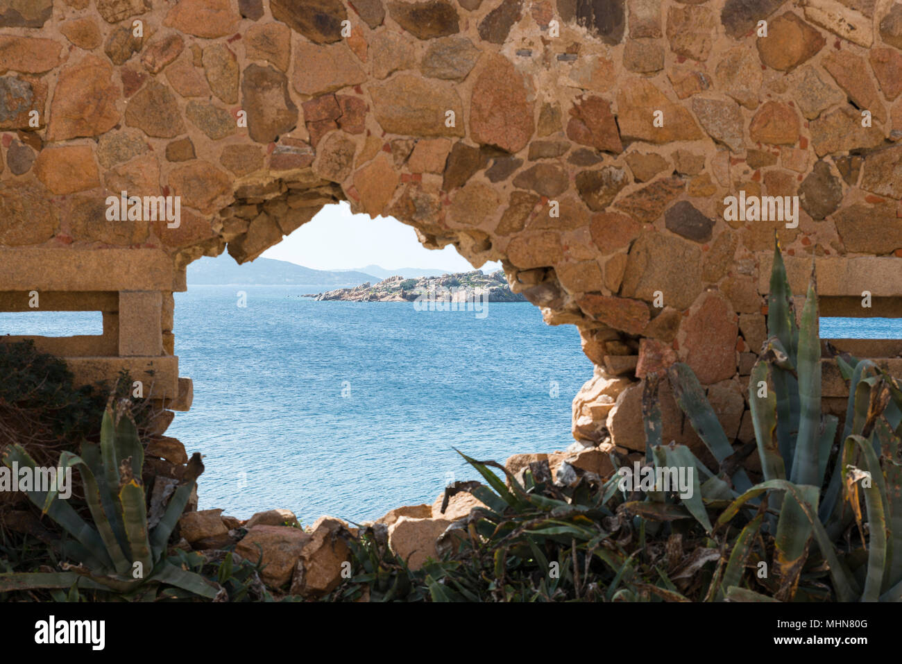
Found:
[[[7,447],[6,466],[36,464],[23,447]],[[0,593],[32,589],[75,588],[122,595],[124,599],[214,599],[223,589],[168,558],[167,543],[189,501],[194,481],[172,493],[161,520],[148,527],[145,492],[141,481],[144,452],[129,411],[128,401],[108,403],[100,444],[83,442],[81,455],[62,452],[59,468],[77,468],[84,484],[93,526],[59,490],[30,491],[28,497],[56,521],[72,540],[58,543],[63,571],[0,574]]]

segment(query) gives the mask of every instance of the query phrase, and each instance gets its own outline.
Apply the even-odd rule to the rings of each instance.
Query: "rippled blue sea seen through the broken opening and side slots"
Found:
[[[570,403],[592,376],[575,327],[545,325],[529,303],[489,303],[479,318],[300,297],[319,290],[176,294],[176,354],[194,405],[167,433],[205,455],[200,509],[376,519],[474,479],[455,447],[503,462],[572,442]],[[0,334],[99,332],[99,313],[0,314]],[[899,338],[902,321],[825,318],[821,334]]]

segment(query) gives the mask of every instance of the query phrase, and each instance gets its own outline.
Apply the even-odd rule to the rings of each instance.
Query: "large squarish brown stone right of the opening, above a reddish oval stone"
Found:
[[[658,233],[642,233],[630,247],[621,295],[688,309],[702,291],[702,251],[694,244]]]

